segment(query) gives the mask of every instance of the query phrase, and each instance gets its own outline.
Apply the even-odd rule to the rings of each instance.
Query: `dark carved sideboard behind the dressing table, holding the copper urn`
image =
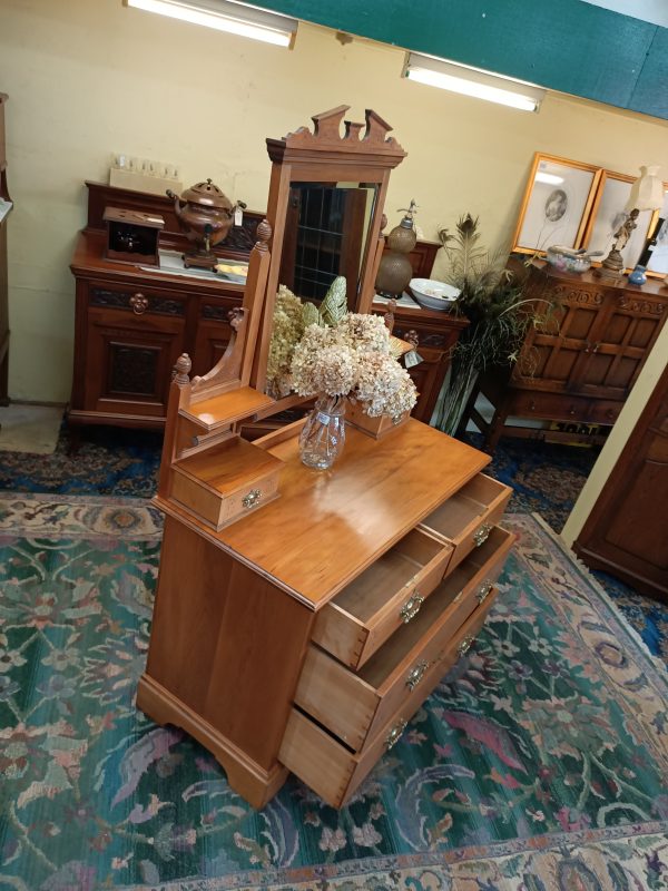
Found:
[[[244,286],[225,281],[169,275],[105,260],[105,207],[160,215],[160,246],[184,249],[174,203],[167,197],[87,183],[88,222],[78,236],[70,268],[76,280],[75,360],[68,409],[71,424],[163,429],[170,371],[186,352],[194,373],[204,374],[229,342],[228,314],[242,303]],[[261,214],[246,210],[219,246],[223,256],[247,261]],[[419,242],[411,254],[414,274],[429,277],[439,245]],[[386,306],[376,304],[374,312]],[[429,423],[464,319],[399,306],[395,334],[409,337],[422,362],[411,369],[420,392],[414,417]]]

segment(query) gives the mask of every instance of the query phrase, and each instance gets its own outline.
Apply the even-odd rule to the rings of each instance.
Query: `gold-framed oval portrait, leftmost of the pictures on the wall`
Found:
[[[591,164],[533,156],[512,251],[544,255],[548,247],[580,247],[601,170]]]

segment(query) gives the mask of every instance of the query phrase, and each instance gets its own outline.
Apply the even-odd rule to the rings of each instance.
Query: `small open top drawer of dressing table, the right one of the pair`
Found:
[[[487,540],[511,493],[508,486],[479,473],[420,523],[419,529],[454,547],[449,571]]]

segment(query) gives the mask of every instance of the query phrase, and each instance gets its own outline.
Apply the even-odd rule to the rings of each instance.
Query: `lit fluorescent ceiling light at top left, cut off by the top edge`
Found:
[[[204,25],[239,37],[264,40],[277,47],[292,46],[297,32],[296,19],[266,12],[264,9],[237,3],[234,0],[124,0],[125,6],[157,12],[173,19]]]

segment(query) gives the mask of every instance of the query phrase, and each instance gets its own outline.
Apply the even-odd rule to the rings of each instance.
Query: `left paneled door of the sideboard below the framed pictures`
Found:
[[[603,293],[600,288],[569,283],[552,285],[540,293],[533,288],[532,295],[539,301],[560,303],[562,309],[544,327],[529,329],[511,380],[532,390],[578,392],[576,382],[600,324]]]

